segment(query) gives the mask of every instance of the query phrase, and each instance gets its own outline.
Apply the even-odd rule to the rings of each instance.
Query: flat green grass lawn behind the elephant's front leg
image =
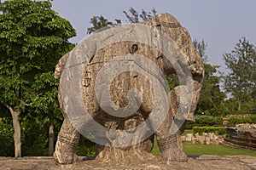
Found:
[[[236,149],[224,144],[192,144],[192,142],[183,142],[183,150],[187,155],[218,155],[218,156],[256,156],[256,151]],[[153,155],[160,155],[160,150],[156,143],[151,152]]]

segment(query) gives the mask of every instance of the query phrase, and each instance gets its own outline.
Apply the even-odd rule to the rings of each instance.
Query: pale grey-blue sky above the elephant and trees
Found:
[[[207,42],[212,65],[222,65],[222,55],[230,53],[239,38],[256,42],[256,0],[54,0],[53,9],[69,20],[77,31],[72,42],[87,35],[90,18],[103,15],[108,20],[121,19],[130,7],[141,11],[155,8],[157,14],[170,13],[189,30],[194,40]]]

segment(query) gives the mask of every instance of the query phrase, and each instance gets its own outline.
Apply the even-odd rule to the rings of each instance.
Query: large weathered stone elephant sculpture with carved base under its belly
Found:
[[[95,141],[101,141],[96,144],[98,161],[129,163],[152,158],[154,135],[164,160],[187,161],[179,147],[179,135],[186,120],[194,121],[204,77],[201,57],[189,32],[171,14],[158,14],[152,20],[99,34],[81,42],[56,65],[64,122],[55,145],[55,160],[61,164],[77,161],[79,133],[90,129],[86,133],[96,133]],[[167,38],[162,41],[162,37]],[[180,84],[170,92],[164,90],[166,97],[157,94],[162,79],[170,74],[178,75]],[[186,88],[187,83],[192,88]],[[189,96],[189,105],[185,103],[187,106],[180,109]],[[152,111],[160,116],[150,116]],[[105,130],[96,129],[93,123]],[[141,127],[143,133],[139,132]]]

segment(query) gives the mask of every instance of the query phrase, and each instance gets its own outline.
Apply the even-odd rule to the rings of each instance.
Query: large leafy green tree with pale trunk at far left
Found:
[[[13,118],[15,157],[20,157],[20,114],[37,105],[37,96],[48,95],[34,87],[35,81],[43,74],[52,77],[49,72],[71,48],[68,38],[75,31],[51,9],[50,0],[4,1],[0,9],[0,103]]]

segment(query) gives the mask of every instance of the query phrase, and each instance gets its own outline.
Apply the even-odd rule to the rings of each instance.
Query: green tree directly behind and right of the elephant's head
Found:
[[[204,40],[199,42],[195,39],[194,45],[201,55],[205,67],[205,78],[196,111],[204,112],[207,115],[221,116],[224,114],[224,99],[226,96],[219,87],[221,80],[221,77],[217,76],[219,66],[207,63],[207,43]]]

